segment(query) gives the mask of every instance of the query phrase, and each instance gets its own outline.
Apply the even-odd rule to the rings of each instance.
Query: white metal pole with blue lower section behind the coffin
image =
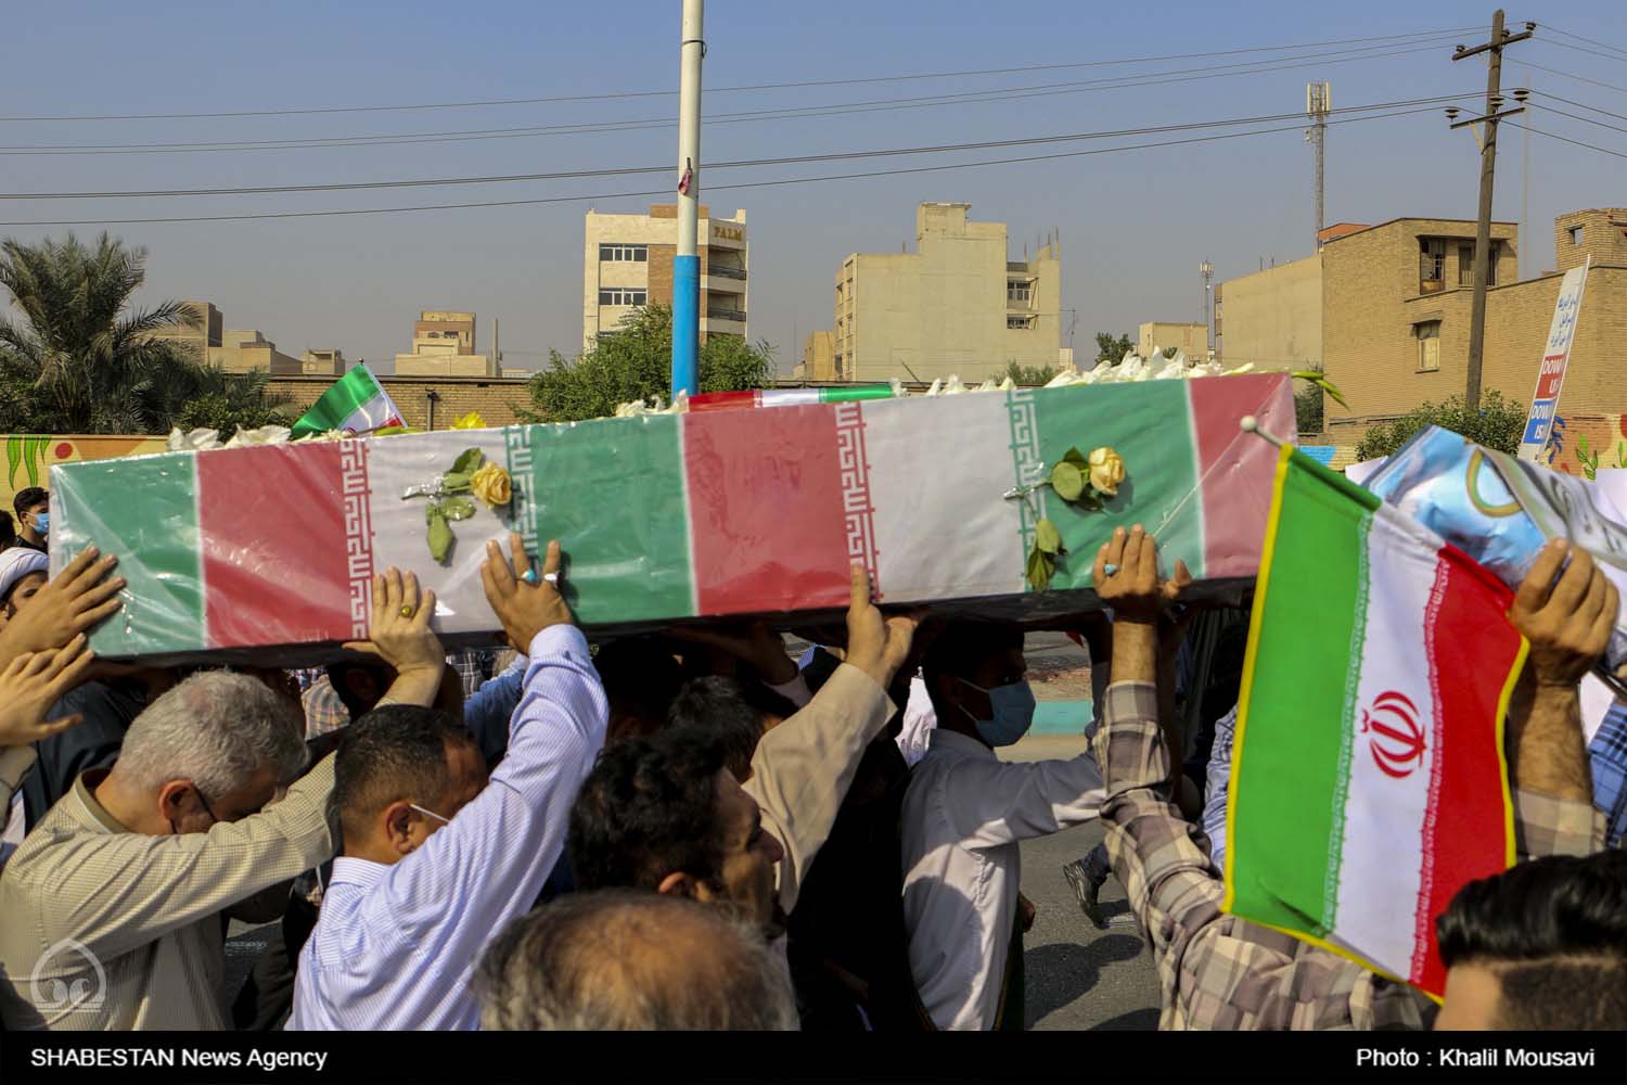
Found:
[[[672,257],[672,395],[700,392],[701,60],[704,0],[683,0],[678,70],[678,246]]]

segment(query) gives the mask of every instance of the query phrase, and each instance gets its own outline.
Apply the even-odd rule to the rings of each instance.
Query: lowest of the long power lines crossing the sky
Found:
[[[1329,120],[1329,125],[1336,124],[1355,124],[1360,120],[1386,120],[1389,117],[1407,117],[1420,112],[1435,112],[1433,106],[1425,106],[1420,109],[1402,109],[1396,112],[1370,114],[1365,117],[1342,117],[1339,120]],[[1295,114],[1298,115],[1298,114]],[[923,174],[923,172],[940,172],[947,169],[973,169],[979,166],[1010,166],[1017,163],[1038,163],[1053,161],[1061,158],[1085,158],[1090,155],[1113,155],[1118,151],[1137,151],[1158,146],[1181,146],[1189,143],[1210,143],[1217,140],[1235,140],[1251,135],[1272,135],[1279,132],[1300,132],[1303,124],[1293,124],[1280,129],[1254,129],[1251,132],[1220,132],[1215,135],[1197,135],[1183,140],[1162,140],[1154,143],[1129,143],[1124,146],[1101,146],[1084,151],[1058,151],[1053,155],[1028,155],[1023,158],[997,158],[984,159],[976,163],[949,163],[939,166],[908,166],[901,169],[874,169],[864,172],[851,174],[823,174],[817,177],[783,177],[774,181],[737,181],[729,184],[708,185],[708,192],[729,192],[739,189],[774,189],[781,185],[794,184],[814,184],[820,181],[854,181],[861,177],[890,177],[901,174]],[[348,215],[399,215],[410,211],[451,211],[451,210],[467,210],[467,208],[491,208],[491,207],[534,207],[542,203],[581,203],[591,200],[622,200],[651,195],[669,195],[669,189],[649,189],[643,192],[599,192],[587,195],[556,195],[556,197],[532,197],[524,200],[485,200],[472,203],[426,203],[417,207],[374,207],[374,208],[347,208],[347,210],[330,210],[330,211],[262,211],[252,215],[184,215],[184,216],[164,216],[164,218],[99,218],[99,220],[31,220],[31,221],[0,221],[0,226],[138,226],[138,224],[156,224],[156,223],[226,223],[226,221],[254,221],[254,220],[275,220],[275,218],[338,218]]]

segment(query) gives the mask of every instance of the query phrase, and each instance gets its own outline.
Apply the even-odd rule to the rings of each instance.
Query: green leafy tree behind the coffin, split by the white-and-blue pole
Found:
[[[735,335],[713,335],[701,345],[701,392],[739,392],[766,387],[774,379],[774,348]],[[550,351],[548,368],[530,379],[534,410],[527,421],[579,421],[613,415],[622,403],[672,399],[672,309],[638,309],[604,333],[576,361]]]

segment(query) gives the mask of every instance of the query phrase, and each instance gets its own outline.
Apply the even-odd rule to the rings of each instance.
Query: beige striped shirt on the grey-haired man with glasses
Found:
[[[7,1028],[231,1028],[226,913],[334,852],[334,758],[207,833],[132,833],[86,778],[0,875]]]

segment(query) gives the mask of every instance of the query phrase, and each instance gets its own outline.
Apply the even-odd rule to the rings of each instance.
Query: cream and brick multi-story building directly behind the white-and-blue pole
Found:
[[[678,208],[656,203],[648,215],[587,211],[582,246],[582,350],[613,335],[638,307],[672,304],[672,257],[678,246]],[[752,246],[745,211],[711,218],[700,207],[701,342],[709,335],[745,337],[745,299]]]

